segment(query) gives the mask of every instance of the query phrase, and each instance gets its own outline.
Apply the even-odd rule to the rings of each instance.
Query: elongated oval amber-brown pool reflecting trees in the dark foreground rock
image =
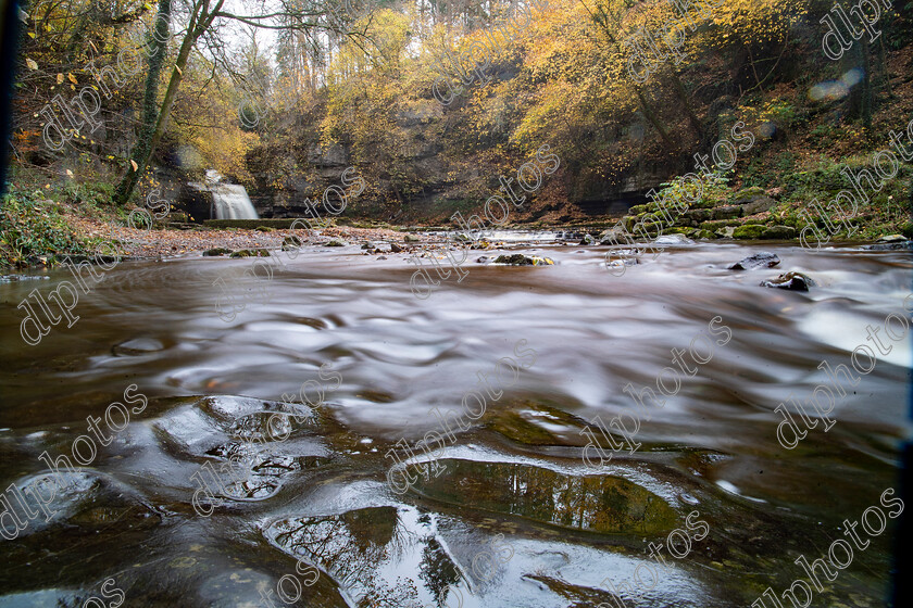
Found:
[[[513,515],[603,534],[658,535],[678,515],[662,498],[612,476],[570,476],[531,465],[441,458],[438,477],[418,476],[412,490],[461,508]]]

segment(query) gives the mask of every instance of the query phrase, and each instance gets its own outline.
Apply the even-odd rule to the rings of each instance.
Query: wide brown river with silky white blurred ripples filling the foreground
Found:
[[[0,481],[39,490],[25,498],[37,517],[0,540],[0,606],[83,605],[108,579],[126,606],[284,606],[277,583],[321,607],[749,606],[808,580],[793,561],[826,556],[845,519],[898,487],[909,334],[883,330],[890,352],[858,355],[874,367],[837,392],[827,432],[810,410],[815,428],[787,449],[775,408],[836,389],[817,367],[850,366],[866,325],[910,317],[909,253],[701,244],[616,277],[603,248],[517,246],[555,265],[471,252],[468,275],[427,300],[404,255],[355,245],[274,252],[260,280],[243,277],[251,259],[122,262],[35,346],[16,305],[70,273],[0,284]],[[762,250],[779,267],[726,269]],[[759,287],[787,270],[817,287]],[[692,344],[706,363],[663,372]],[[680,382],[662,405],[625,393],[656,391],[661,372]],[[470,391],[484,411],[472,396],[464,409]],[[116,402],[139,413],[99,422],[109,443],[88,466],[48,472],[39,456],[72,458],[86,418]],[[639,418],[636,433],[621,418],[627,438],[591,422],[623,414]],[[587,427],[624,444],[601,467]],[[409,468],[392,473],[393,457]],[[234,481],[202,494],[204,517],[207,464]],[[54,481],[46,517],[33,496]],[[890,517],[863,535],[813,606],[888,605],[893,535]]]

